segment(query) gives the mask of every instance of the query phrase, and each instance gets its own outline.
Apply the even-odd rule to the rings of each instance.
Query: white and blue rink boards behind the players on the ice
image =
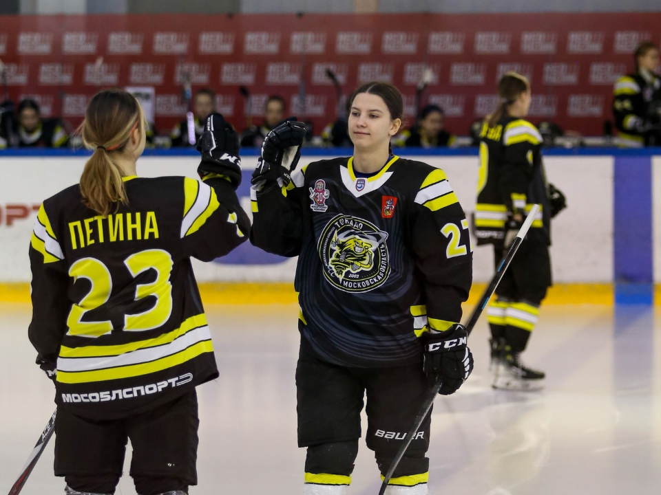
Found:
[[[195,152],[148,153],[138,162],[138,175],[196,177]],[[302,163],[348,153],[308,150]],[[249,177],[257,157],[246,154],[238,193],[251,214]],[[441,150],[431,155],[402,150],[400,155],[443,168],[470,217],[475,208],[476,151]],[[36,209],[43,199],[76,184],[85,160],[83,153],[70,151],[16,151],[0,156],[0,283],[30,281],[27,248]],[[647,284],[651,294],[652,281],[661,283],[661,150],[553,150],[545,153],[545,166],[549,182],[565,193],[568,205],[552,223],[554,282]],[[264,283],[291,282],[295,263],[246,243],[224,259],[195,261],[194,266],[203,282]],[[488,281],[492,273],[492,250],[477,247],[474,280]]]

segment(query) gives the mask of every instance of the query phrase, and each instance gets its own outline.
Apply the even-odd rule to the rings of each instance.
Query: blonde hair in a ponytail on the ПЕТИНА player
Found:
[[[94,95],[79,130],[87,149],[94,150],[81,175],[81,194],[87,208],[107,216],[120,203],[128,203],[123,174],[112,161],[112,152],[124,150],[136,127],[147,129],[145,113],[127,91],[108,89]]]

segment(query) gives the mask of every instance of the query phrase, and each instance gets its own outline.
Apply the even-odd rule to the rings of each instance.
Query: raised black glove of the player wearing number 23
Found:
[[[211,113],[204,124],[197,150],[202,153],[198,174],[202,179],[222,176],[234,189],[241,184],[239,135],[220,113]]]

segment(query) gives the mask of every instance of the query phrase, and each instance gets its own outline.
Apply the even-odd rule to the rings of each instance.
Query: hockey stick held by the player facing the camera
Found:
[[[507,270],[507,267],[510,266],[512,259],[514,258],[514,254],[516,254],[516,250],[518,250],[518,247],[523,242],[523,238],[525,237],[525,234],[527,234],[528,229],[530,228],[530,225],[532,225],[532,222],[534,221],[538,211],[539,211],[539,205],[533,205],[532,210],[530,210],[530,212],[528,213],[528,216],[523,222],[521,229],[518,231],[518,234],[516,234],[516,238],[514,239],[512,246],[510,246],[510,251],[507,252],[507,256],[505,256],[503,261],[501,261],[498,270],[496,270],[496,273],[494,274],[494,278],[491,279],[491,283],[489,284],[489,287],[487,287],[484,294],[482,294],[482,298],[480,299],[480,302],[477,304],[475,309],[473,309],[473,313],[470,315],[470,318],[468,319],[468,324],[466,325],[466,333],[468,333],[468,335],[470,335],[470,332],[473,330],[473,327],[475,326],[475,323],[477,322],[478,318],[480,318],[480,315],[482,314],[482,311],[489,302],[489,299],[491,298],[491,296],[493,296],[496,287],[498,287],[498,284],[501,282],[501,279],[505,274],[505,270]],[[418,410],[418,415],[415,417],[413,427],[406,434],[406,437],[404,438],[404,442],[397,451],[397,455],[395,456],[395,459],[393,459],[392,465],[390,465],[390,469],[388,469],[388,472],[384,477],[384,483],[381,484],[379,495],[384,495],[384,493],[386,492],[386,488],[388,487],[388,481],[390,481],[390,478],[392,478],[392,473],[394,473],[395,470],[397,469],[397,465],[399,465],[399,461],[401,461],[401,458],[406,453],[406,449],[408,448],[408,445],[410,445],[411,440],[418,431],[418,428],[420,428],[420,425],[424,421],[425,417],[428,415],[429,410],[432,408],[432,404],[434,404],[434,399],[436,399],[436,396],[438,395],[440,388],[441,388],[441,377],[439,375],[439,377],[437,377],[437,380],[434,382],[434,384],[427,392],[427,395],[425,396],[425,401],[423,402],[421,408]]]

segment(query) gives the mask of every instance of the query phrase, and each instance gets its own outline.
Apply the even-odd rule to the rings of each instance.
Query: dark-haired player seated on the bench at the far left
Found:
[[[0,130],[0,148],[14,142],[19,148],[59,148],[65,146],[69,136],[64,124],[57,118],[41,118],[39,104],[29,98],[21,100],[17,109],[18,125],[8,137],[6,129]]]

